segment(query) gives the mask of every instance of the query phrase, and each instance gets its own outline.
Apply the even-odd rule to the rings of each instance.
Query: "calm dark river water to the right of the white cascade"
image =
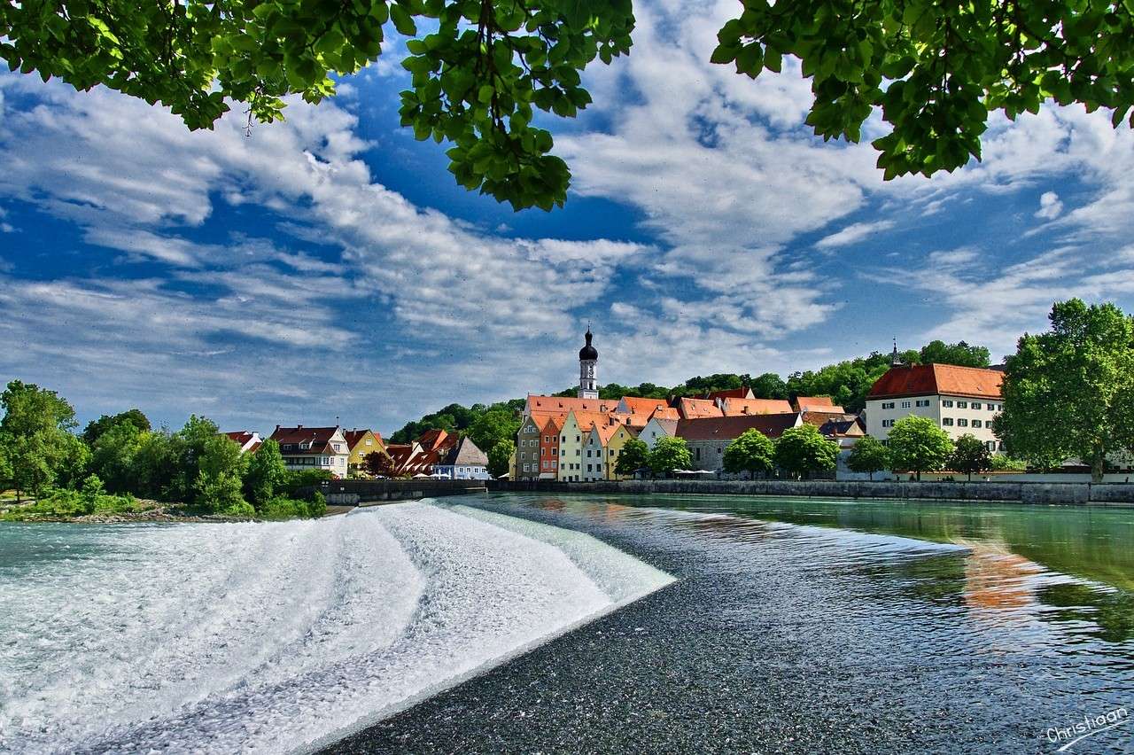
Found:
[[[1050,753],[1053,727],[1131,704],[1122,509],[475,506],[585,532],[678,582],[324,753]]]

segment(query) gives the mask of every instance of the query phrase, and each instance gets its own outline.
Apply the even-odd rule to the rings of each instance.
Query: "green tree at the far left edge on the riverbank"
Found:
[[[70,434],[75,409],[54,391],[14,380],[0,395],[0,436],[17,498],[24,491],[42,495],[56,482],[76,481],[86,447]]]

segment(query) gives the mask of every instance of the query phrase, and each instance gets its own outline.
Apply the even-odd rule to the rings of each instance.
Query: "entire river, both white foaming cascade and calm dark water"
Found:
[[[1056,752],[1120,707],[1132,509],[506,494],[0,525],[0,750]]]

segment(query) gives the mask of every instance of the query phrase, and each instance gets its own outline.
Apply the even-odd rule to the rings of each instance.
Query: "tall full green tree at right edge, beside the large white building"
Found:
[[[1107,456],[1134,449],[1134,322],[1080,299],[1055,304],[1049,320],[1005,362],[993,432],[1035,466],[1078,458],[1101,482]]]

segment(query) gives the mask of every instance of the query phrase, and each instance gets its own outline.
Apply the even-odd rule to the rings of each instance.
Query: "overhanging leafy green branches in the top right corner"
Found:
[[[1117,128],[1134,104],[1132,35],[1123,3],[758,0],[720,29],[711,60],[756,78],[798,58],[814,95],[806,122],[824,139],[857,142],[880,111],[891,130],[872,144],[890,179],[979,160],[993,110],[1080,102],[1114,109]]]

